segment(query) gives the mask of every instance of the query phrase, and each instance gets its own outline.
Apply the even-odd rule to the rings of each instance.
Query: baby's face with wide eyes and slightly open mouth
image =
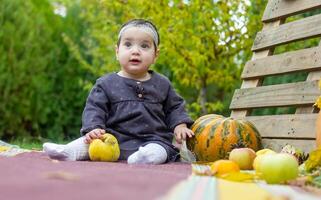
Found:
[[[131,27],[122,35],[116,54],[122,70],[135,76],[143,76],[156,61],[153,38],[143,29]]]

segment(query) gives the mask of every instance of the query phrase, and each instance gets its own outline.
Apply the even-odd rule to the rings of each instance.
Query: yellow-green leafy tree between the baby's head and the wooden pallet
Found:
[[[245,6],[243,1],[174,2],[157,15],[163,36],[159,64],[170,68],[180,92],[197,91],[188,106],[194,116],[222,111],[225,92],[234,88],[240,72],[235,56],[244,40],[231,18],[241,16]]]

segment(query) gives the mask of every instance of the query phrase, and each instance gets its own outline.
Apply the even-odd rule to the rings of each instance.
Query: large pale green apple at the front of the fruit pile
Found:
[[[291,154],[268,154],[262,157],[259,169],[267,183],[277,184],[295,179],[299,173],[299,164]]]

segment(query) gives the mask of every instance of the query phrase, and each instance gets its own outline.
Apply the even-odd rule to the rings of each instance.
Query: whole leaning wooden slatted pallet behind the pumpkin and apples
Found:
[[[252,60],[244,66],[242,86],[230,105],[231,117],[245,118],[255,124],[263,145],[279,151],[286,144],[308,152],[316,147],[313,104],[320,95],[321,42],[319,46],[274,54],[277,46],[320,38],[321,14],[285,23],[287,17],[321,8],[321,0],[269,0],[257,33]],[[303,82],[264,85],[267,76],[308,72]],[[255,108],[293,106],[295,114],[253,116]]]

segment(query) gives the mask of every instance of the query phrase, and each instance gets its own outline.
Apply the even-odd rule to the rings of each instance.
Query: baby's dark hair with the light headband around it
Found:
[[[157,49],[159,43],[160,43],[160,39],[159,39],[159,33],[158,30],[156,28],[156,26],[148,20],[145,19],[132,19],[128,22],[126,22],[125,24],[123,24],[120,27],[120,31],[119,31],[119,35],[118,35],[118,41],[117,41],[117,46],[119,46],[120,44],[120,40],[121,40],[121,36],[122,36],[122,32],[126,29],[126,27],[146,27],[149,28],[151,30],[151,32],[153,33],[153,43],[155,46],[155,49]]]

